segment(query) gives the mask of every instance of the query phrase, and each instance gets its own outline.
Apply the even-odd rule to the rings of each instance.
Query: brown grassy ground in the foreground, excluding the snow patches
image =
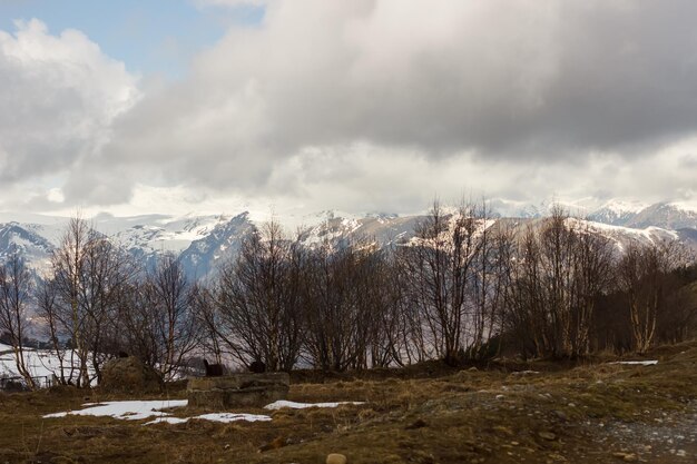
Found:
[[[654,366],[429,364],[361,375],[294,375],[288,399],[336,408],[235,411],[271,422],[220,424],[50,413],[134,399],[52,388],[0,394],[0,463],[695,463],[697,342],[662,347]],[[185,398],[183,389],[149,399]],[[192,417],[212,411],[176,408]]]

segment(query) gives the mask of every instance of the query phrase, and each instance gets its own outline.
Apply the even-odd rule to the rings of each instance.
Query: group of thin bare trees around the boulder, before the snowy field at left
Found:
[[[119,352],[174,378],[199,344],[193,289],[171,254],[144,268],[87,221],[71,219],[36,296],[58,381],[99,382],[104,363]]]

